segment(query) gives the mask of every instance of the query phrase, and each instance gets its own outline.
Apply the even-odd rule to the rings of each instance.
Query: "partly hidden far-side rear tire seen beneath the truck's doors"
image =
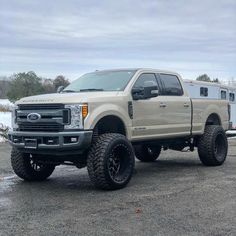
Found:
[[[160,153],[161,146],[148,146],[146,144],[134,145],[135,156],[142,162],[155,161]]]

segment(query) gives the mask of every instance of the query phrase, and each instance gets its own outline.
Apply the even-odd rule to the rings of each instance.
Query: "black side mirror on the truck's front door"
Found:
[[[134,100],[148,99],[158,96],[157,86],[146,86],[132,89],[132,97]]]

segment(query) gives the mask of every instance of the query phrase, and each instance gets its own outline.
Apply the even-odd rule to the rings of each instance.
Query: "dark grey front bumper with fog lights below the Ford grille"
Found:
[[[24,150],[85,150],[92,141],[92,130],[66,132],[9,131],[9,143]]]

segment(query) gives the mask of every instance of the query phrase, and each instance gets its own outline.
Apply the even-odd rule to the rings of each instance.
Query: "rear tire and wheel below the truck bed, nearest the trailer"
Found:
[[[221,126],[206,126],[204,134],[198,141],[198,155],[203,165],[219,166],[226,159],[228,141]]]

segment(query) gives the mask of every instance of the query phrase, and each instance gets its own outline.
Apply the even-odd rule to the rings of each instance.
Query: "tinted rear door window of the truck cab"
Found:
[[[182,96],[184,94],[179,78],[172,74],[159,74],[162,91],[161,95]]]

